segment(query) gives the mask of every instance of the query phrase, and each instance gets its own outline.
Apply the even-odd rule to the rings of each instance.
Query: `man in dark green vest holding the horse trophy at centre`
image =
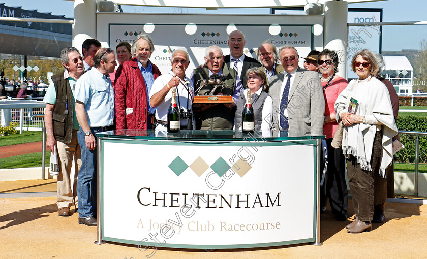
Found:
[[[224,62],[224,55],[220,47],[216,45],[207,47],[205,62],[203,67],[198,67],[193,71],[195,94],[198,94],[199,80],[207,79],[213,74],[224,75],[227,77],[225,84],[233,91],[234,103],[193,105],[196,130],[231,130],[234,124],[235,105],[243,86],[237,79],[236,71],[230,69]]]

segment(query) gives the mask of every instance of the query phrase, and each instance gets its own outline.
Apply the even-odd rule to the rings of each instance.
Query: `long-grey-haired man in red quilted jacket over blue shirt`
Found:
[[[156,108],[151,108],[148,94],[154,80],[162,73],[148,59],[154,51],[148,34],[138,34],[132,44],[134,57],[123,62],[115,74],[116,129],[151,130]]]

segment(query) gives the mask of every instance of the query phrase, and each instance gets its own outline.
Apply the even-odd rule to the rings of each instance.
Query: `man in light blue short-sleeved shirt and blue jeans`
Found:
[[[82,166],[77,179],[79,224],[97,225],[97,132],[114,130],[114,89],[108,74],[116,66],[114,51],[101,48],[94,68],[76,84],[76,115]]]

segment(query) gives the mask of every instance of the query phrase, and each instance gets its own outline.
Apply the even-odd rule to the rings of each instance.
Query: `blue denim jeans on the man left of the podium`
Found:
[[[97,128],[92,128],[95,140],[97,140],[95,136],[97,132],[99,132]],[[84,131],[81,127],[77,136],[81,148],[81,167],[77,177],[79,218],[88,218],[97,215],[98,145],[94,150],[87,148]]]

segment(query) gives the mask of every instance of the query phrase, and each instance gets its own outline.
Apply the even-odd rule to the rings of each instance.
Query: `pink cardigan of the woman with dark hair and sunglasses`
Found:
[[[322,81],[322,87],[325,87],[327,81]],[[337,100],[338,95],[347,87],[348,82],[342,77],[335,76],[335,80],[331,85],[326,87],[323,91],[323,96],[325,96],[325,117],[331,113],[335,113],[335,100]],[[337,131],[338,123],[333,121],[323,125],[323,134],[327,139],[333,138],[335,132]]]

